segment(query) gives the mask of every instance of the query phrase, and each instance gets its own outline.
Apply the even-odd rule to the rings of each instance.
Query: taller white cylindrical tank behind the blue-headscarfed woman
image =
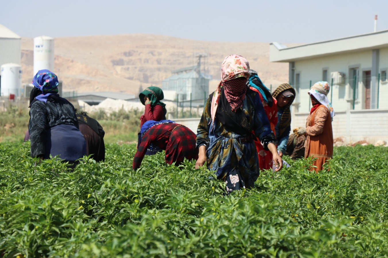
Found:
[[[54,38],[39,36],[34,38],[34,74],[47,69],[54,72]]]

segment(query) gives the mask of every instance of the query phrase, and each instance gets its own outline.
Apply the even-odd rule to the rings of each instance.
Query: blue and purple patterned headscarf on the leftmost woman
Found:
[[[47,102],[47,98],[50,95],[58,93],[58,77],[47,69],[39,70],[32,79],[32,84],[35,88],[42,91],[42,94],[36,96],[37,100]]]

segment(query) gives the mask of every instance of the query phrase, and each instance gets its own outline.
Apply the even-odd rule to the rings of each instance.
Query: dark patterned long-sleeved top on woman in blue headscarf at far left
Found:
[[[74,106],[68,100],[57,95],[50,96],[47,103],[35,101],[31,105],[29,115],[28,130],[31,139],[31,157],[45,153],[44,140],[49,128],[61,124],[79,128]]]

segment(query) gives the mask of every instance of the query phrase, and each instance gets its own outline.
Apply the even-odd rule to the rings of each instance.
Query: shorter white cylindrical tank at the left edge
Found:
[[[1,96],[14,94],[20,96],[22,86],[22,67],[18,64],[3,64],[1,66]]]

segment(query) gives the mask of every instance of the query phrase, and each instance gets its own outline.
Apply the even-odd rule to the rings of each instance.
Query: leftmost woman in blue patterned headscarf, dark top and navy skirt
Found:
[[[31,157],[47,159],[58,155],[75,164],[86,154],[86,143],[78,130],[73,105],[58,95],[58,78],[53,72],[38,71],[32,84],[28,123]]]

